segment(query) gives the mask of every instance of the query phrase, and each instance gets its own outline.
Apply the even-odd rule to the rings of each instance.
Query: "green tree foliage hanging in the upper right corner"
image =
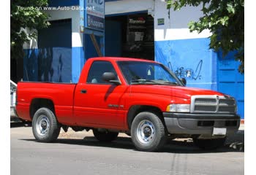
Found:
[[[211,31],[209,47],[222,56],[236,51],[235,59],[240,61],[238,71],[244,74],[244,0],[167,0],[167,9],[202,7],[203,17],[189,22],[189,30]]]

